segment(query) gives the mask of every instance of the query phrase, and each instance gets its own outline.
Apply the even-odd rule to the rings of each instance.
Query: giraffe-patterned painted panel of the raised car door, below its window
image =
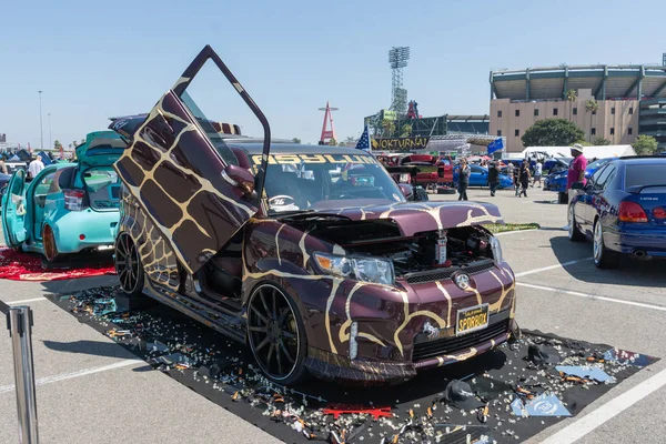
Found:
[[[222,178],[226,164],[172,91],[153,108],[114,167],[190,273],[258,211]]]

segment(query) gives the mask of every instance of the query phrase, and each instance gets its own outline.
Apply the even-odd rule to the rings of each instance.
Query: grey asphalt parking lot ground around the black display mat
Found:
[[[534,189],[533,189],[534,190]],[[562,228],[566,206],[555,193],[513,191],[472,200],[497,204],[507,222],[542,229],[501,234],[503,251],[518,278],[522,327],[666,356],[666,275],[658,262],[626,262],[596,270],[592,244],[571,243]],[[457,199],[453,195],[433,200]],[[44,443],[129,442],[270,443],[272,436],[152,371],[112,340],[79,323],[43,295],[113,284],[114,278],[78,281],[0,282],[0,299],[34,310],[34,370],[39,432]],[[11,343],[0,339],[0,442],[17,441]],[[638,372],[587,406],[528,442],[657,443],[666,434],[664,360]]]

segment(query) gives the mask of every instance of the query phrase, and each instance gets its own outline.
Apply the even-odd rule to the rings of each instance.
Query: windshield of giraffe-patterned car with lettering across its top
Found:
[[[261,155],[254,155],[256,169]],[[270,213],[404,202],[400,188],[369,154],[275,154],[265,192]]]

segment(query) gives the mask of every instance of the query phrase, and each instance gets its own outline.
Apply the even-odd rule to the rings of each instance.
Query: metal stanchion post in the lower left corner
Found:
[[[8,306],[0,301],[0,311],[7,314],[11,336],[19,413],[19,442],[37,444],[37,400],[32,363],[32,310],[29,306]]]

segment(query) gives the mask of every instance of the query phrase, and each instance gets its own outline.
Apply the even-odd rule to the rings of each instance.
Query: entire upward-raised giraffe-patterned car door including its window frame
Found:
[[[216,78],[203,81],[200,72],[214,72]],[[212,100],[221,88],[231,90],[243,109]],[[215,109],[214,115],[204,115],[202,109]],[[254,183],[252,178],[249,183],[238,180],[241,175],[246,179],[248,171],[240,171],[238,159],[224,142],[239,127],[220,124],[220,120],[233,120],[238,114],[252,117],[259,122],[252,129],[263,131],[264,164]],[[130,148],[115,163],[130,193],[190,273],[221,250],[259,211],[270,137],[262,111],[206,46],[148,114],[133,133]]]

